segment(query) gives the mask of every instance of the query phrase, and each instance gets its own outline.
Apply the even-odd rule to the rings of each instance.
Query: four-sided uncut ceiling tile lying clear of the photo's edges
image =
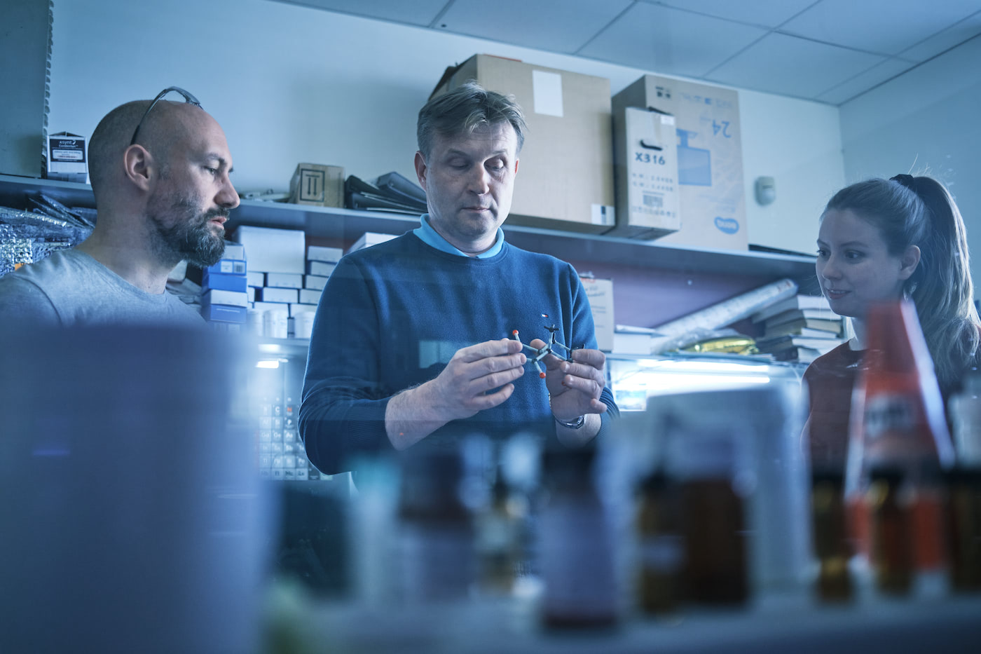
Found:
[[[733,86],[813,98],[885,59],[879,55],[772,33],[707,77]]]

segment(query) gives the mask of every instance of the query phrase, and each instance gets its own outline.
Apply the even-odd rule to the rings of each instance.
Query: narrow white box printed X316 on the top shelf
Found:
[[[681,227],[675,119],[627,107],[613,116],[616,227],[610,236],[658,239]]]

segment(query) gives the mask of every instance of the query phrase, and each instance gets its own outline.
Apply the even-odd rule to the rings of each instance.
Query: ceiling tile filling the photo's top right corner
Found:
[[[821,0],[780,31],[895,55],[981,10],[981,0]]]

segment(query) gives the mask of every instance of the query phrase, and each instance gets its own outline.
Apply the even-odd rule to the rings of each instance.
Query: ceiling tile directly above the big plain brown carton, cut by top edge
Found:
[[[633,0],[456,0],[436,25],[448,31],[552,52],[575,52]]]

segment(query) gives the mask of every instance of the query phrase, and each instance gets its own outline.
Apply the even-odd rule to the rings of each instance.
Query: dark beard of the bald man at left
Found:
[[[224,207],[198,213],[200,202],[186,194],[173,194],[156,202],[147,217],[154,226],[154,248],[161,260],[177,265],[186,260],[207,268],[218,263],[225,253],[225,239],[211,231],[211,220],[229,216]],[[223,231],[224,233],[224,231]]]

